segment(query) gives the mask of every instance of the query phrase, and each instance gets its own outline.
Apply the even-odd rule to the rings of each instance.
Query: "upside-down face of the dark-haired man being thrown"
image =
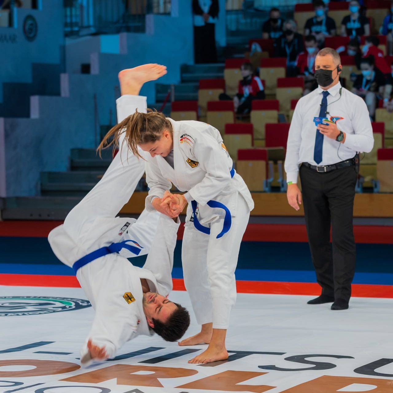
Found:
[[[156,292],[143,294],[143,311],[150,327],[154,327],[153,318],[165,323],[177,309],[176,304]]]

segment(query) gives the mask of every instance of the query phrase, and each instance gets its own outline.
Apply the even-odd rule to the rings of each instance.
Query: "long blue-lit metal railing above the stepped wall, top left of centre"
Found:
[[[143,33],[151,13],[170,14],[171,0],[64,0],[64,33]]]

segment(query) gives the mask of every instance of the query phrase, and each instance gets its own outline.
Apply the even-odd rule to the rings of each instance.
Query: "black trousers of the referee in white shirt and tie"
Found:
[[[318,284],[322,294],[349,301],[356,260],[353,236],[356,171],[350,166],[318,173],[301,165],[299,174]]]

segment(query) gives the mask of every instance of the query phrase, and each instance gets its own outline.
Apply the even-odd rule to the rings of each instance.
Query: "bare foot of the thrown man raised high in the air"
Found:
[[[144,64],[135,68],[127,68],[119,72],[121,95],[139,95],[144,83],[155,81],[167,73],[166,66],[160,64]]]

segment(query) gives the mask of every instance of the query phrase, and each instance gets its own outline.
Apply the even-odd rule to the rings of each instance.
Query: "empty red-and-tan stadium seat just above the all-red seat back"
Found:
[[[253,100],[250,119],[254,126],[254,139],[265,139],[265,124],[278,122],[279,101]]]

